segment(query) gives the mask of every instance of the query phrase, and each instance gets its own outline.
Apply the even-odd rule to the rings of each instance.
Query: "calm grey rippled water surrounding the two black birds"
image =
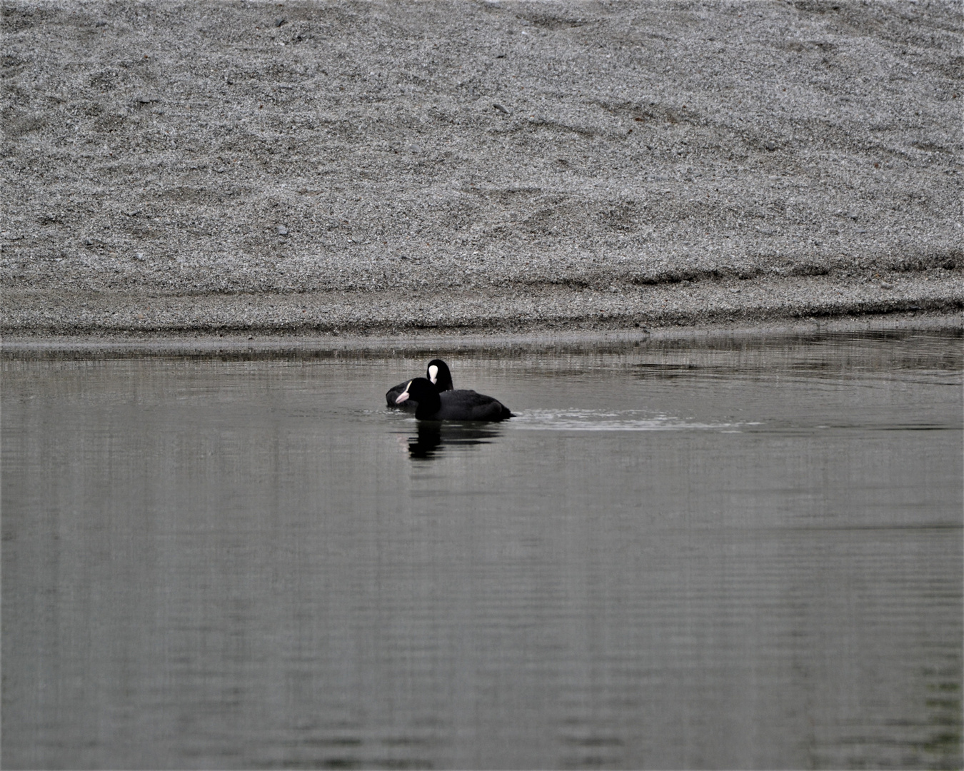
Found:
[[[385,409],[436,354],[518,417]],[[8,352],[3,765],[960,768],[962,370]]]

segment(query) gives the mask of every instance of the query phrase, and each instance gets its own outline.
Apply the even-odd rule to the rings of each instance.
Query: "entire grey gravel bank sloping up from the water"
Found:
[[[959,3],[2,20],[6,333],[964,307]]]

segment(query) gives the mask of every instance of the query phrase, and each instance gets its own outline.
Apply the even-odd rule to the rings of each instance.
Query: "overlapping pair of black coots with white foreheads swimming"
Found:
[[[418,420],[505,420],[512,417],[501,402],[472,390],[455,390],[452,373],[442,359],[432,359],[426,377],[388,389],[388,407],[415,408]]]

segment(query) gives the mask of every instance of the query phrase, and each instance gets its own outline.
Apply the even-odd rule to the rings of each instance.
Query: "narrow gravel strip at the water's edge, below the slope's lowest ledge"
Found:
[[[503,282],[413,291],[174,295],[0,293],[6,336],[567,334],[821,323],[964,310],[964,273],[580,285]]]

